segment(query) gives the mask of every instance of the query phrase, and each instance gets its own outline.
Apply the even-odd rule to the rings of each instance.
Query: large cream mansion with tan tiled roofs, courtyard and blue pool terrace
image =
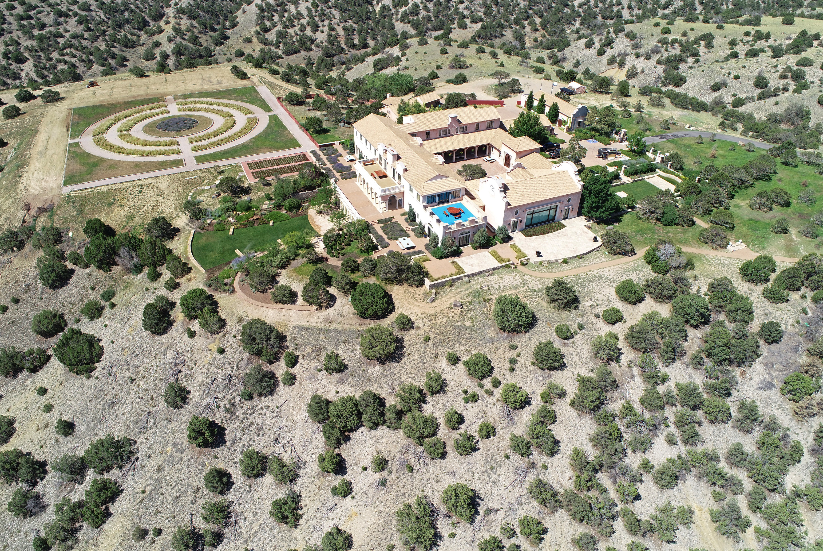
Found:
[[[486,226],[517,232],[578,215],[574,163],[551,163],[540,144],[509,135],[497,108],[425,112],[402,124],[371,114],[354,128],[360,189],[379,212],[412,209],[440,240],[465,246]],[[491,175],[463,179],[457,170],[470,159]]]

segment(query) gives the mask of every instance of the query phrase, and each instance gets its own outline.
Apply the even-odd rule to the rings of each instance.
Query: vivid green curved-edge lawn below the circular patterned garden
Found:
[[[312,230],[308,216],[291,218],[269,226],[263,224],[255,227],[238,227],[235,235],[229,232],[195,233],[192,241],[192,253],[203,269],[210,269],[237,258],[235,249],[240,252],[253,250],[275,250],[277,240],[289,232]],[[314,230],[312,230],[314,232]]]

